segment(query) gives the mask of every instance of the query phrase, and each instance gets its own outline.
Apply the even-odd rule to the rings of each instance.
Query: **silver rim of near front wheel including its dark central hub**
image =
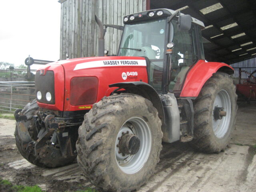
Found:
[[[118,167],[126,174],[138,172],[148,160],[152,145],[150,127],[140,117],[126,120],[116,135],[115,155]]]

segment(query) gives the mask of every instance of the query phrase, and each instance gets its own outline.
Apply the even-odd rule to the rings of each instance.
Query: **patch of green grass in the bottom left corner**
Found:
[[[37,185],[34,186],[22,186],[22,185],[13,185],[8,180],[2,180],[0,178],[0,191],[8,192],[42,192],[42,189]]]

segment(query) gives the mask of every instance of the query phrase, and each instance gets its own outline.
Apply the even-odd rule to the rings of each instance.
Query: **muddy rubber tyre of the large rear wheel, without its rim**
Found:
[[[232,111],[232,122],[230,121],[230,130],[227,131],[227,135],[223,140],[218,140],[213,135],[212,123],[209,118],[212,118],[210,106],[215,99],[216,90],[218,90],[219,84],[231,84],[230,86],[230,98],[235,109]],[[190,142],[192,147],[206,153],[219,153],[225,150],[228,145],[232,130],[235,125],[235,116],[237,110],[237,104],[234,104],[237,100],[236,87],[233,84],[232,79],[228,74],[224,72],[216,72],[212,77],[204,84],[198,98],[194,101],[194,139]],[[233,107],[233,106],[232,106]]]

